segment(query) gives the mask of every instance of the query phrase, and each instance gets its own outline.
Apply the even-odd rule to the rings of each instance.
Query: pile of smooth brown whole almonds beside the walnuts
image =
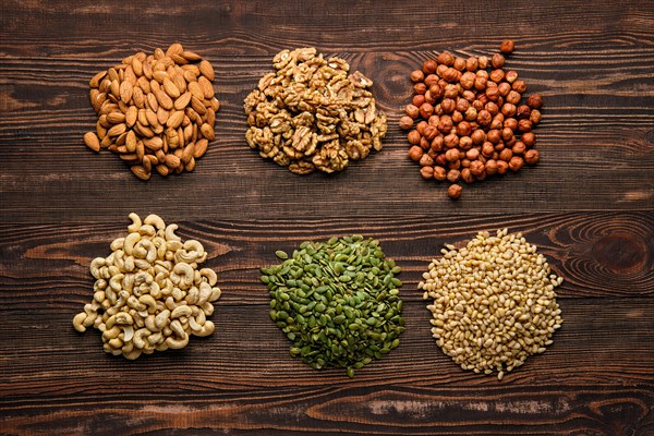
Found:
[[[98,121],[84,143],[118,154],[142,180],[153,170],[193,171],[214,140],[220,108],[211,81],[211,64],[181,44],[129,56],[90,80]]]

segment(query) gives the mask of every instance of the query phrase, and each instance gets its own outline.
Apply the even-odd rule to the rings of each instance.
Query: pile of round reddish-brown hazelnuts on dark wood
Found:
[[[505,55],[513,49],[506,40],[491,59],[444,52],[411,73],[413,101],[400,119],[400,128],[409,130],[409,158],[420,162],[423,179],[449,181],[451,198],[461,196],[460,181],[473,183],[538,161],[532,130],[541,121],[543,99],[532,94],[522,102],[526,83],[504,69]]]

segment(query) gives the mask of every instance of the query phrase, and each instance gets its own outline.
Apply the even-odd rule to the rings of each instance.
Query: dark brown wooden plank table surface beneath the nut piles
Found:
[[[407,159],[408,75],[505,38],[546,100],[542,162],[452,202]],[[141,182],[82,143],[88,80],[172,41],[216,68],[217,140],[195,172]],[[0,45],[1,434],[654,434],[654,2],[8,0]],[[302,46],[370,75],[389,118],[384,149],[342,173],[296,177],[244,141],[243,98]],[[201,240],[223,291],[213,336],[135,362],[71,325],[131,211]],[[443,244],[505,227],[565,278],[565,324],[498,382],[441,353],[416,284]],[[402,267],[408,327],[353,379],[289,355],[258,271],[276,250],[349,233]]]

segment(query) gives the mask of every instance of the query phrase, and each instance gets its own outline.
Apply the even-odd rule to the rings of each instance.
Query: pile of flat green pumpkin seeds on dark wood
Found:
[[[284,262],[262,268],[270,318],[312,367],[343,367],[350,377],[398,347],[404,331],[400,267],[361,235],[303,242]]]

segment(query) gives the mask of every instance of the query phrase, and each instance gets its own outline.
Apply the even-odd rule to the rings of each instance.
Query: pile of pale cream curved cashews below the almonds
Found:
[[[93,302],[73,318],[75,329],[94,326],[106,352],[130,360],[181,349],[191,335],[214,332],[207,316],[220,289],[213,269],[198,269],[207,258],[202,244],[183,242],[174,234],[178,226],[166,226],[157,215],[130,219],[128,237],[111,243],[108,257],[90,263]]]

